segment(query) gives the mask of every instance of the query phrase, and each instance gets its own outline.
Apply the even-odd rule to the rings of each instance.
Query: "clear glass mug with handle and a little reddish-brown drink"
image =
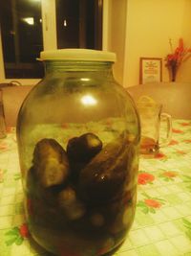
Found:
[[[171,141],[172,118],[162,112],[162,105],[147,96],[138,99],[137,107],[141,128],[140,153],[155,155]]]

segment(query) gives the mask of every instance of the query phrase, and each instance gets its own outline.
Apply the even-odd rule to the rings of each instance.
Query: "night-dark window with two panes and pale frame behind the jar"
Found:
[[[36,58],[43,50],[101,49],[102,5],[103,0],[0,1],[0,80],[42,78]]]

